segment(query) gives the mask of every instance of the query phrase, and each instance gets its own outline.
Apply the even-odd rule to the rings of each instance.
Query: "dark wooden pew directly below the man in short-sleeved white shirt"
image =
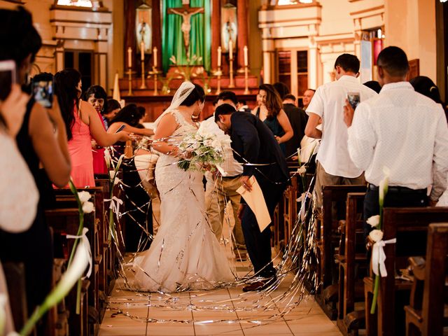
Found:
[[[337,266],[335,263],[335,250],[339,246],[340,234],[338,232],[339,220],[345,218],[345,202],[348,193],[363,193],[366,186],[323,186],[322,213],[320,225],[317,226],[316,246],[318,249],[317,276],[320,279],[316,291],[316,301],[325,314],[332,320],[337,318]],[[337,214],[337,207],[344,209]],[[343,206],[343,207],[342,207]]]

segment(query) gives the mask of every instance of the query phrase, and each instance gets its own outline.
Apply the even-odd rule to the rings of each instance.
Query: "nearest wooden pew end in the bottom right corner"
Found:
[[[442,336],[447,293],[448,223],[430,224],[426,260],[409,258],[414,274],[410,304],[406,311],[406,335]]]

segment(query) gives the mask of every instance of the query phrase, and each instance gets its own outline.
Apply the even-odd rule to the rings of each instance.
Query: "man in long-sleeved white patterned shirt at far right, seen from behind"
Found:
[[[448,127],[442,106],[407,82],[409,64],[400,48],[382,50],[377,65],[379,95],[360,103],[356,111],[344,108],[350,157],[365,170],[368,182],[365,219],[379,213],[384,167],[390,170],[386,207],[426,207],[430,184],[430,205],[435,205],[447,188]],[[366,224],[366,235],[369,230]]]

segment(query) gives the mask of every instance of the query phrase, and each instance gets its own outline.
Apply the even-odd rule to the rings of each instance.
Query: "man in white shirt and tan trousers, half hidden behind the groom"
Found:
[[[218,95],[215,106],[218,107],[222,104],[230,104],[236,109],[237,103],[237,95],[234,92],[223,91]],[[202,123],[209,123],[211,127],[216,127],[216,132],[223,132],[218,125],[216,125],[214,117],[204,120]],[[211,229],[214,231],[216,238],[218,238],[218,240],[221,239],[223,235],[224,209],[227,206],[227,203],[230,202],[235,218],[235,226],[232,230],[232,243],[234,244],[235,252],[237,252],[237,259],[245,259],[246,245],[244,243],[241,221],[238,218],[241,195],[237,193],[237,189],[241,186],[239,178],[243,172],[243,167],[237,160],[235,160],[230,146],[224,150],[224,160],[223,163],[221,163],[221,168],[225,172],[225,176],[221,176],[220,174],[217,176],[210,172],[205,174],[207,179],[205,198],[207,216],[209,216]]]

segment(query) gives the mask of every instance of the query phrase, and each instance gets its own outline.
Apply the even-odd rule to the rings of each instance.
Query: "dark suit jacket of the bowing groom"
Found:
[[[246,163],[242,158],[250,163],[272,163],[266,166],[245,165],[243,175],[255,175],[260,184],[265,184],[267,181],[288,181],[289,173],[285,157],[274,134],[265,123],[251,113],[239,111],[232,113],[230,120],[232,148],[237,152],[234,153],[235,159],[242,163]]]

